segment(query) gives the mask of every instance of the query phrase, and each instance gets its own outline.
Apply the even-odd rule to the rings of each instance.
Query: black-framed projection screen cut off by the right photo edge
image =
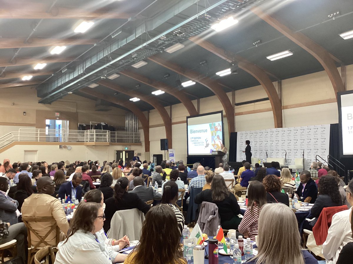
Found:
[[[353,90],[337,93],[342,157],[353,157]]]

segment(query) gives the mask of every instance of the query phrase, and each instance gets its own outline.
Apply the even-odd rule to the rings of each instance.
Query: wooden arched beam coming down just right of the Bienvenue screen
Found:
[[[169,70],[172,70],[178,74],[184,75],[185,77],[190,78],[191,80],[198,82],[198,83],[202,84],[203,86],[209,88],[222,103],[222,106],[223,106],[224,111],[227,116],[229,136],[230,136],[231,132],[235,132],[234,108],[231,103],[231,100],[229,100],[227,94],[223,90],[223,87],[219,83],[210,79],[209,77],[202,76],[201,74],[197,73],[196,71],[185,69],[185,68],[180,67],[179,65],[168,62],[158,55],[153,55],[153,56],[149,57],[148,59],[151,60],[152,62],[155,62],[155,63],[169,69]]]

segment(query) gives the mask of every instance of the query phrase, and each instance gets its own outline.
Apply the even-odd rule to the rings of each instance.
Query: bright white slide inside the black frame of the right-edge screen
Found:
[[[343,155],[353,155],[353,93],[341,94]]]

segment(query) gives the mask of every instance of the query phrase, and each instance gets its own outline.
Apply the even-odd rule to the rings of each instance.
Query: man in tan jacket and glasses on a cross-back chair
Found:
[[[55,224],[59,226],[60,241],[67,235],[70,226],[66,219],[64,210],[62,209],[61,202],[53,197],[55,191],[55,183],[48,176],[43,176],[37,180],[38,193],[31,194],[23,202],[21,212],[22,217],[25,216],[53,216],[54,220],[49,222],[30,222],[29,225],[35,230],[38,235],[44,237],[47,232]],[[32,244],[36,244],[40,239],[31,232]],[[56,246],[56,228],[47,236],[46,242],[50,245]],[[43,243],[40,246],[45,246]]]

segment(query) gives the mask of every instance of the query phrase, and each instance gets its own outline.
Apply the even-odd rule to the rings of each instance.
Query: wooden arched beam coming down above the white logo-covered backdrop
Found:
[[[215,45],[206,40],[203,40],[198,37],[191,37],[189,38],[189,40],[201,46],[202,48],[212,52],[213,54],[219,56],[220,58],[225,59],[228,62],[238,62],[238,67],[240,69],[245,70],[247,73],[255,77],[256,80],[262,85],[265,92],[267,93],[268,98],[270,99],[275,127],[282,127],[282,104],[275,86],[273,85],[272,81],[270,80],[270,77],[267,73],[265,73],[264,70],[250,63],[245,58],[232,54],[232,52],[230,51],[226,51],[219,47],[216,47]]]

